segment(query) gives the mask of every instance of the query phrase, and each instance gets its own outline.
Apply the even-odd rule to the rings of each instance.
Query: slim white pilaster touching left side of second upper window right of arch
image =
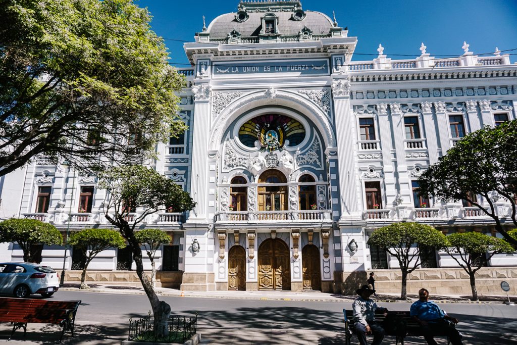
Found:
[[[391,124],[393,126],[393,139],[395,142],[399,194],[404,200],[411,200],[411,186],[406,163],[404,116],[402,116],[402,107],[400,103],[390,103],[389,107],[391,111]]]

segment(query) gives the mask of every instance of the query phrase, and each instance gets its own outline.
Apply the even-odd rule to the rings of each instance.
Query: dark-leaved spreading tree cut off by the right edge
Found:
[[[441,200],[465,200],[479,207],[494,219],[496,230],[508,243],[517,246],[501,225],[495,203],[500,197],[511,205],[510,218],[517,226],[515,203],[517,196],[517,121],[497,127],[486,126],[468,134],[425,171],[418,183],[422,195],[430,194]],[[483,197],[485,208],[475,196]],[[473,198],[474,196],[474,198]]]

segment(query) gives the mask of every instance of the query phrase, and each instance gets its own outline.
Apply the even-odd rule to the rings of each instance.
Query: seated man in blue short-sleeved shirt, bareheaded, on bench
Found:
[[[434,340],[436,334],[445,334],[449,337],[452,345],[462,345],[461,333],[448,321],[454,324],[458,319],[446,315],[433,301],[429,301],[429,291],[420,289],[419,300],[411,305],[409,314],[420,324],[425,340],[429,345],[437,345]]]

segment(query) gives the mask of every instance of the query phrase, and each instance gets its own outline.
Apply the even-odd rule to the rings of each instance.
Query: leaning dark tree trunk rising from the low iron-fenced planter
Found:
[[[136,275],[138,275],[138,277],[140,278],[140,281],[142,282],[142,287],[144,288],[145,294],[147,295],[149,303],[151,304],[151,308],[153,309],[155,337],[157,340],[159,338],[168,337],[168,320],[171,314],[171,306],[169,306],[167,303],[163,301],[160,302],[158,296],[155,293],[155,289],[153,289],[153,286],[151,286],[149,279],[147,279],[147,276],[144,274],[144,265],[142,263],[142,249],[140,248],[140,244],[134,236],[133,231],[131,231],[128,225],[125,226],[124,233],[129,242],[129,246],[133,251],[133,261],[136,266]]]

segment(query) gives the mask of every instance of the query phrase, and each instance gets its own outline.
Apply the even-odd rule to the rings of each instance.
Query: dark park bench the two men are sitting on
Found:
[[[354,311],[343,309],[343,314],[345,317],[346,345],[350,345],[352,335],[355,334]],[[413,320],[409,315],[409,311],[388,311],[388,314],[385,316],[383,312],[376,310],[375,321],[377,324],[383,326],[385,336],[396,337],[396,345],[399,341],[404,345],[404,338],[406,336],[423,336],[420,331],[420,324]],[[400,325],[403,325],[403,329],[400,329]],[[399,329],[397,329],[397,326],[399,326]],[[437,334],[437,336],[446,336],[446,334]],[[447,345],[449,345],[449,343],[450,340],[447,338]]]

